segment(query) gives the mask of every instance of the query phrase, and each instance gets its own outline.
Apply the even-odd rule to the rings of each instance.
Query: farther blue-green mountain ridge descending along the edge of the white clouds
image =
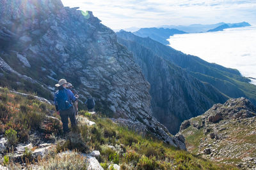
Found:
[[[117,35],[118,42],[127,46],[134,55],[144,55],[144,51],[138,51],[138,49],[141,49],[138,45],[143,46],[147,48],[147,50],[150,50],[150,53],[168,62],[172,62],[176,66],[182,67],[186,73],[194,78],[211,84],[225,94],[225,96],[233,98],[247,97],[253,104],[256,104],[256,86],[248,83],[250,80],[241,76],[236,69],[209,63],[193,55],[186,55],[185,53],[179,52],[170,46],[163,45],[150,38],[134,36],[131,32],[120,31]],[[121,39],[126,40],[126,42]],[[151,54],[148,53],[147,55],[150,56]],[[147,55],[144,56],[146,59]],[[140,63],[138,64],[141,65]],[[144,70],[144,67],[145,66],[141,67],[142,70]],[[145,75],[145,77],[147,78],[147,75]],[[207,94],[207,96],[209,96],[209,94]],[[221,101],[218,103],[221,103]]]

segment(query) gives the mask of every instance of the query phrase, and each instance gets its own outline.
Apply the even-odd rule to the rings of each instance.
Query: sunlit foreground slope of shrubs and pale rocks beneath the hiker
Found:
[[[150,134],[145,138],[95,112],[80,110],[77,128],[70,130],[62,134],[51,102],[0,88],[1,170],[232,168],[177,150]]]

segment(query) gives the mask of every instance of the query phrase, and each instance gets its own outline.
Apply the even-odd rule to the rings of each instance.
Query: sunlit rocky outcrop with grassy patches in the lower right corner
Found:
[[[186,146],[206,159],[256,168],[256,107],[244,97],[215,104],[203,115],[182,123]]]

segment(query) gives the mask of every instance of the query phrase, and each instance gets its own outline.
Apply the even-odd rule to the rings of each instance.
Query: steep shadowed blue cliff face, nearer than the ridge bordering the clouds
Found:
[[[154,117],[172,134],[179,131],[184,120],[201,115],[215,103],[227,101],[227,97],[212,85],[197,80],[173,62],[141,45],[140,41],[125,39],[132,36],[136,39],[137,36],[129,32],[118,32],[117,35],[118,43],[133,53],[136,63],[150,83]]]

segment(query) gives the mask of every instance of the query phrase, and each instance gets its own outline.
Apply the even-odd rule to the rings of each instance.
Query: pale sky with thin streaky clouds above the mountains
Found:
[[[111,29],[160,25],[249,22],[256,25],[256,0],[62,0],[93,11]]]

